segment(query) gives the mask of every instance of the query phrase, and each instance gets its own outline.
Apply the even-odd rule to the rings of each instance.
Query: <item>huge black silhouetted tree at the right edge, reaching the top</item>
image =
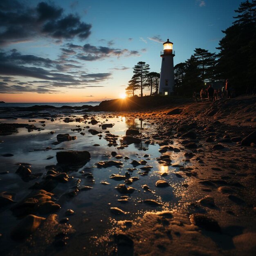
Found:
[[[229,79],[231,87],[245,92],[247,85],[256,83],[256,0],[242,2],[235,12],[234,25],[222,31],[225,36],[217,48],[218,73]]]

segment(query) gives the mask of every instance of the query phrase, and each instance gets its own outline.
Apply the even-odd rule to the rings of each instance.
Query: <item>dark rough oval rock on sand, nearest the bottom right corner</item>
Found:
[[[193,213],[190,217],[193,225],[204,228],[208,231],[220,232],[220,226],[216,220],[202,213]]]

